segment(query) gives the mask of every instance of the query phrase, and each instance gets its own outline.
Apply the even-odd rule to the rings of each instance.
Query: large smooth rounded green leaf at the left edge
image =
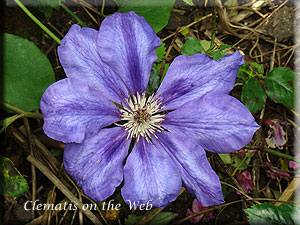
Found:
[[[32,42],[2,34],[4,45],[3,101],[24,111],[40,108],[46,88],[55,82],[48,58]]]

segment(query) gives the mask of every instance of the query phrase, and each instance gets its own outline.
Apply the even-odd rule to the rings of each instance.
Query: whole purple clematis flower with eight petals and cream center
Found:
[[[127,203],[164,207],[184,185],[201,205],[220,204],[220,181],[204,149],[235,151],[258,129],[251,113],[228,95],[243,57],[178,56],[156,94],[147,96],[160,44],[134,12],[107,17],[99,31],[73,25],[58,47],[67,78],[41,100],[44,131],[67,143],[65,170],[95,201],[124,180]]]

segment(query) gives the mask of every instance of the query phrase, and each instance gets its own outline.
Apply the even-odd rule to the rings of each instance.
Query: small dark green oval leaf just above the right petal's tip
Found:
[[[262,110],[266,99],[267,95],[259,81],[253,78],[246,81],[242,89],[242,102],[251,113]]]

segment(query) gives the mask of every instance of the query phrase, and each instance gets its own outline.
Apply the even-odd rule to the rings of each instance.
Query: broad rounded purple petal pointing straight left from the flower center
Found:
[[[103,89],[72,78],[49,86],[40,106],[45,133],[65,143],[80,143],[86,136],[119,120],[117,107]]]

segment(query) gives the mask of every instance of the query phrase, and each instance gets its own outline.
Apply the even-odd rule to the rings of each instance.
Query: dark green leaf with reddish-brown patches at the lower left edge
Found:
[[[0,194],[17,197],[28,190],[28,184],[10,159],[0,155]]]

